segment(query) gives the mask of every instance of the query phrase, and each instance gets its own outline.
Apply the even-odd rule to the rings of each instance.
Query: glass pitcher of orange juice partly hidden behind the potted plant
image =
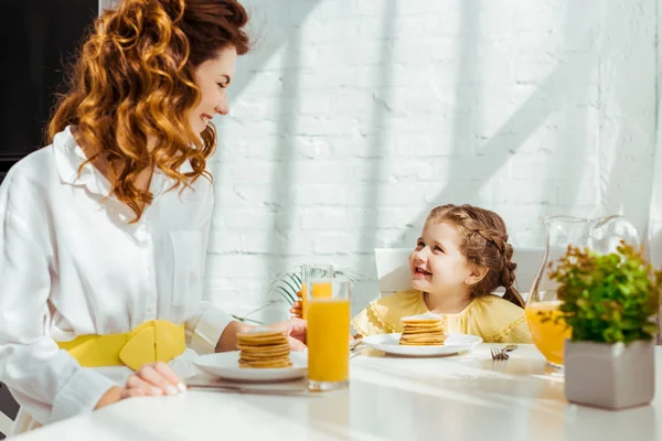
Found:
[[[531,338],[545,356],[552,374],[563,373],[563,348],[572,329],[558,320],[560,301],[556,297],[557,282],[549,277],[549,263],[558,261],[569,245],[588,248],[598,254],[615,252],[621,240],[639,246],[637,228],[622,216],[584,219],[570,216],[543,218],[547,241],[543,262],[533,281],[526,302],[526,322]]]

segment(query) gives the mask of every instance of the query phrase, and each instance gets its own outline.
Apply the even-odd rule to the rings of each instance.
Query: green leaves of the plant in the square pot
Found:
[[[662,270],[655,271],[642,250],[621,243],[617,252],[598,255],[570,246],[549,267],[573,341],[627,344],[654,337]]]

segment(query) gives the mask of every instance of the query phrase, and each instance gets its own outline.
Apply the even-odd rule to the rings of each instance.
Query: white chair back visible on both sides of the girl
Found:
[[[408,263],[410,254],[412,248],[375,248],[375,263],[382,295],[412,288]],[[542,248],[515,248],[513,254],[513,261],[517,263],[515,288],[524,300],[527,300],[533,280],[543,262],[543,254]]]

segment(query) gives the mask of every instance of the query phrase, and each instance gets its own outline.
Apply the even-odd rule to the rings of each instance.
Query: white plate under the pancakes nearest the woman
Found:
[[[284,381],[305,377],[308,372],[308,354],[292,352],[290,361],[291,367],[242,368],[239,352],[234,351],[201,355],[193,359],[193,364],[202,372],[237,381]]]

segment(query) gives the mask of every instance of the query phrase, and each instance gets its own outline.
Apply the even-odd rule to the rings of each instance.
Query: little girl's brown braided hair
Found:
[[[514,287],[513,247],[508,243],[505,223],[496,213],[472,205],[447,204],[434,208],[426,222],[448,223],[458,228],[463,240],[460,252],[469,263],[487,268],[487,275],[469,287],[471,297],[487,295],[505,288],[503,299],[524,308],[524,299]]]

